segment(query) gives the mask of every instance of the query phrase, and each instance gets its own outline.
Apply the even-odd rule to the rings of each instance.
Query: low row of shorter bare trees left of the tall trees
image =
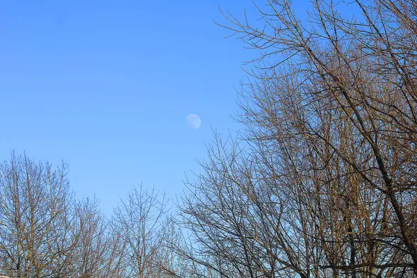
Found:
[[[0,276],[165,277],[179,236],[155,190],[133,188],[106,219],[95,199],[76,201],[65,163],[26,155],[0,164]],[[171,264],[171,265],[170,265]]]

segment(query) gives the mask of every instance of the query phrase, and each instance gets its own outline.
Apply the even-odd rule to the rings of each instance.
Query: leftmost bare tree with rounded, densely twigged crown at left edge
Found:
[[[26,154],[0,165],[1,272],[11,277],[49,277],[69,271],[74,247],[73,195],[67,165],[53,170]]]

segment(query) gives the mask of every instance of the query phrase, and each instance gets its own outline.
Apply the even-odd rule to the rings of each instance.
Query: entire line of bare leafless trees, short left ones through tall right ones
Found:
[[[140,188],[105,220],[74,201],[65,167],[3,163],[2,243],[16,247],[2,271],[415,277],[417,1],[311,3],[303,20],[286,0],[256,3],[254,23],[224,13],[261,52],[240,91],[245,129],[215,134],[176,218]]]

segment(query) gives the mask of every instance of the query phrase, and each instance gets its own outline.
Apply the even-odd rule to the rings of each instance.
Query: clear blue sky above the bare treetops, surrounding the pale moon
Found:
[[[218,6],[244,1],[0,1],[0,158],[70,164],[105,212],[143,183],[174,197],[212,128],[238,125],[243,49]],[[197,114],[199,129],[186,124]]]

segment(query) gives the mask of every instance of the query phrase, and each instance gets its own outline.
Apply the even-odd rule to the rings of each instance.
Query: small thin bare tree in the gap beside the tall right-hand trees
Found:
[[[159,257],[165,197],[158,199],[155,189],[133,188],[115,208],[111,219],[120,258],[117,277],[161,277]]]

